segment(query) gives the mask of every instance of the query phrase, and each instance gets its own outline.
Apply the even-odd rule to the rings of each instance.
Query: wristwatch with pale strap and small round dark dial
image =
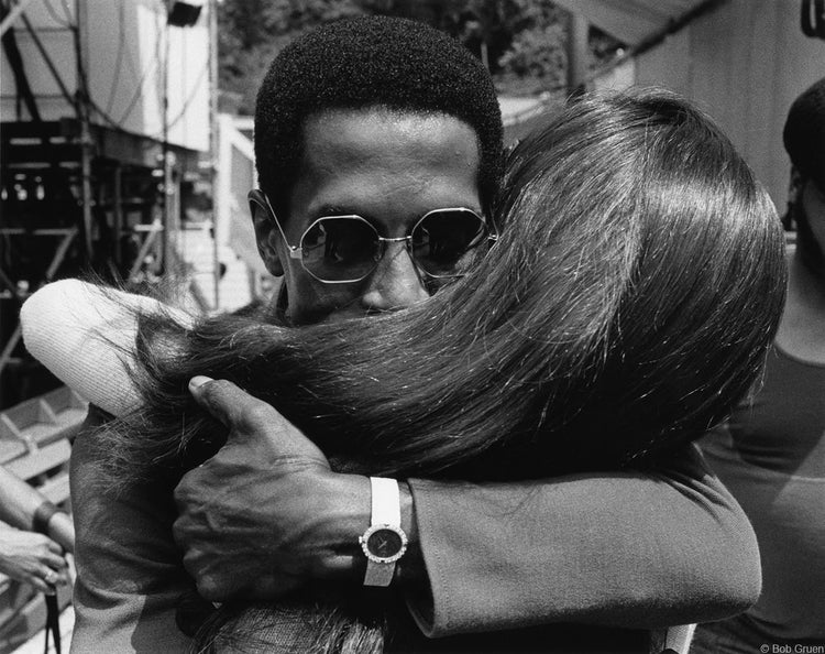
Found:
[[[402,530],[402,500],[398,482],[371,477],[372,519],[359,537],[366,556],[364,586],[389,586],[396,562],[407,551],[407,534]]]

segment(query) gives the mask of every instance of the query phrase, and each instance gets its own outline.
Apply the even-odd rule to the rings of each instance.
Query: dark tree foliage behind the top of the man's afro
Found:
[[[510,92],[557,90],[566,76],[566,14],[550,0],[223,0],[218,7],[223,106],[241,113],[252,111],[266,67],[286,43],[316,25],[364,13],[448,32]]]

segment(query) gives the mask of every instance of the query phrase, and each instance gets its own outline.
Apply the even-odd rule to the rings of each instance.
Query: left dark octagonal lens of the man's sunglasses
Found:
[[[377,236],[375,229],[360,218],[321,218],[300,239],[304,266],[324,282],[361,280],[381,259]]]

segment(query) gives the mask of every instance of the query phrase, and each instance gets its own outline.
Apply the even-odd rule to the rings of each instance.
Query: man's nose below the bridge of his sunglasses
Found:
[[[386,312],[410,306],[429,296],[406,243],[395,242],[386,244],[384,257],[370,275],[361,296],[361,305],[366,310]]]

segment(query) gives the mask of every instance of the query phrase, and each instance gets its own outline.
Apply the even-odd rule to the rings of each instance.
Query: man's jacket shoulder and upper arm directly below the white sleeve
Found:
[[[77,530],[73,652],[185,652],[182,597],[194,592],[170,534],[174,514],[157,491],[113,493],[98,483],[100,449],[111,416],[90,406],[73,446],[69,482]]]

